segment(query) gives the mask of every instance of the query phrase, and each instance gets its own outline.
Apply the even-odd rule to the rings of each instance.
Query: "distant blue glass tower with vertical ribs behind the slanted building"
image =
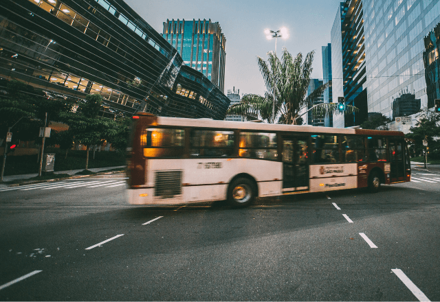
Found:
[[[224,91],[226,38],[218,22],[167,19],[162,36],[179,51],[185,65],[200,71]]]

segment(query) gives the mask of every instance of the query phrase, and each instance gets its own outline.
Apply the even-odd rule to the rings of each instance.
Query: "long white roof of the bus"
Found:
[[[284,125],[253,123],[250,121],[219,121],[215,119],[187,119],[181,117],[156,117],[150,114],[138,113],[140,117],[145,116],[156,119],[155,123],[161,126],[181,126],[197,128],[230,128],[239,130],[261,130],[261,131],[286,131],[286,132],[313,132],[313,133],[334,133],[347,135],[386,135],[404,136],[403,132],[386,130],[367,130],[359,128],[331,128],[309,125]]]

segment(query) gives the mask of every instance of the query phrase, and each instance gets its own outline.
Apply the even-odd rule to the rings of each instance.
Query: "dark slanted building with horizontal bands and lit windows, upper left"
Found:
[[[100,93],[109,118],[223,119],[230,103],[120,0],[0,1],[0,78],[53,98]]]

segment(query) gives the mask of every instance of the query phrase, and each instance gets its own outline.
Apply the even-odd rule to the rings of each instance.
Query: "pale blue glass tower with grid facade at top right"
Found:
[[[363,0],[368,110],[388,117],[402,91],[428,102],[423,37],[440,22],[439,0]]]

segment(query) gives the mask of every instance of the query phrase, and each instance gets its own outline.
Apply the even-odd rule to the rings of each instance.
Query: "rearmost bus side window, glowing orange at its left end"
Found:
[[[140,143],[146,157],[181,157],[185,144],[185,130],[147,128],[142,131]]]

